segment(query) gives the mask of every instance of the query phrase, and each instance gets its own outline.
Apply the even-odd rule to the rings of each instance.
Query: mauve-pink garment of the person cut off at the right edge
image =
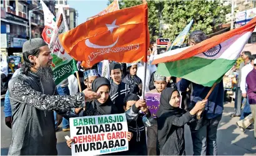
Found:
[[[256,104],[256,69],[254,68],[246,77],[247,95],[249,104]]]

